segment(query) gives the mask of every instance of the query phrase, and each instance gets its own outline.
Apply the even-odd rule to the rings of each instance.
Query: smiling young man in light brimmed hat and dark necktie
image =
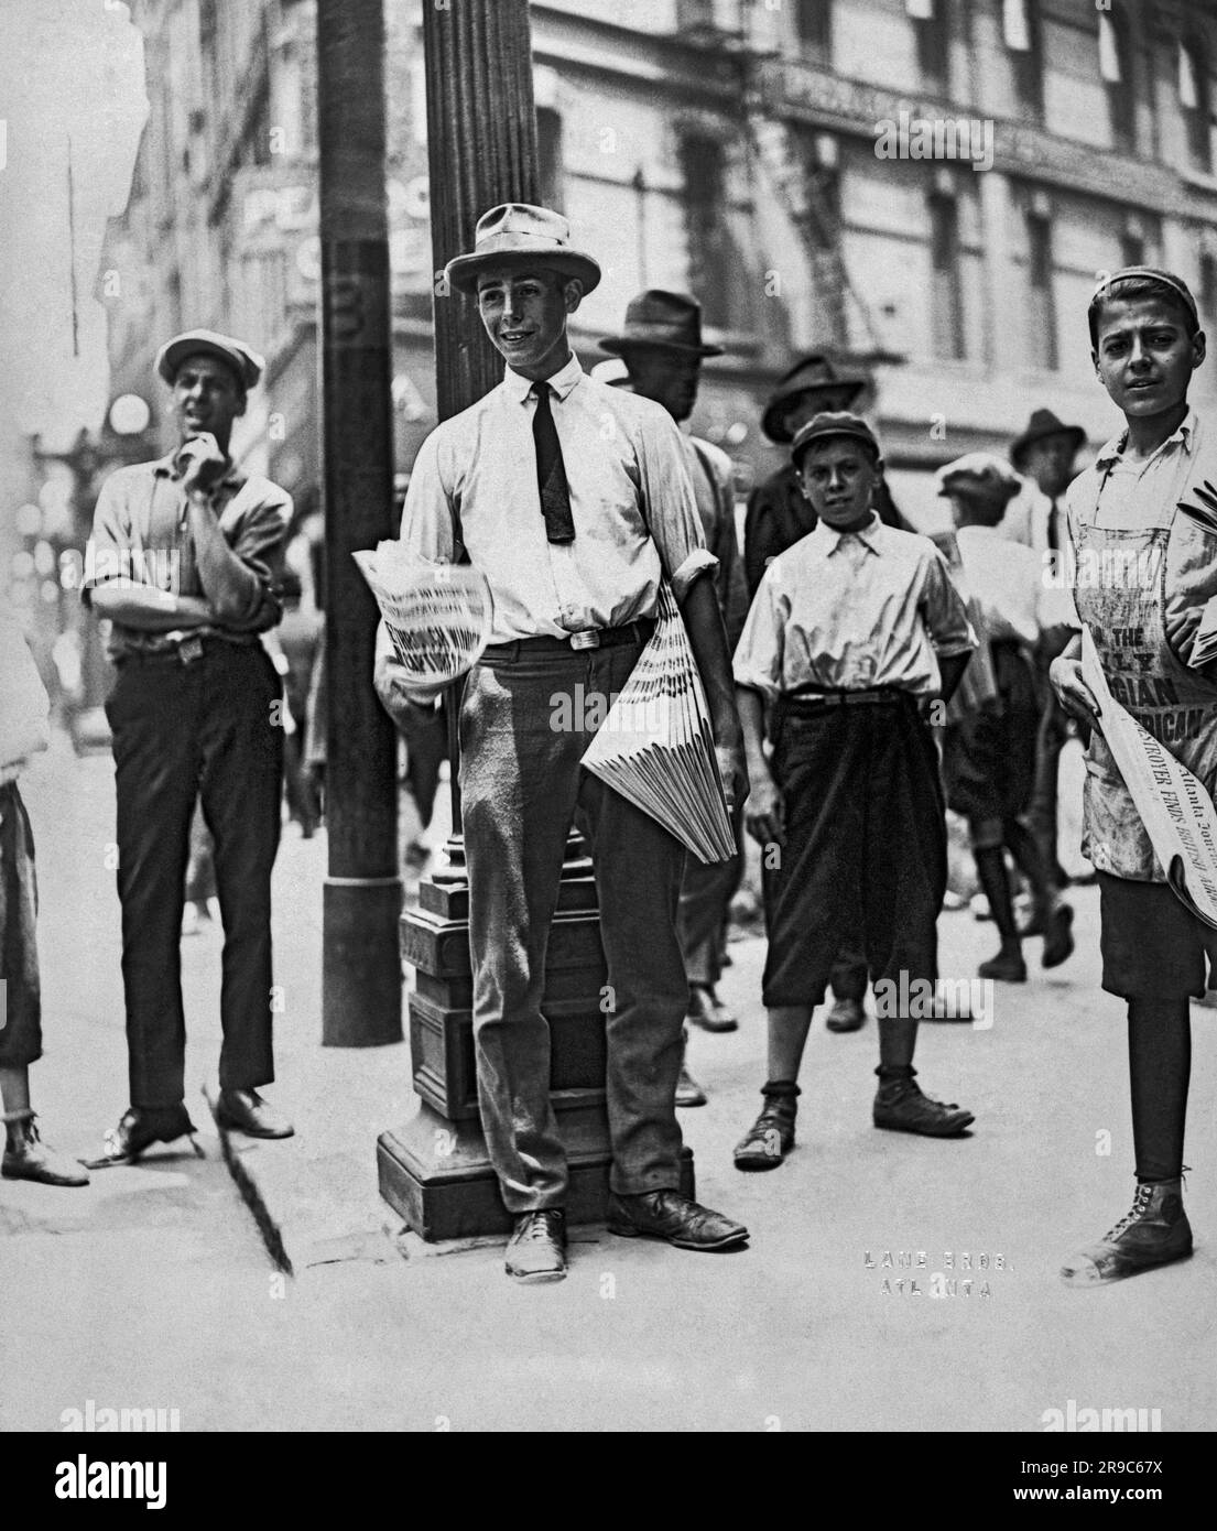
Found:
[[[507,204],[485,213],[447,277],[476,294],[504,381],[424,441],[403,540],[453,559],[459,537],[494,597],[491,643],[461,704],[461,804],[470,888],[478,1098],[504,1203],[507,1271],[566,1272],[566,1156],[550,1101],[540,1010],[550,920],[571,821],[595,862],[612,1009],[609,1228],[683,1249],[726,1249],[747,1229],[678,1191],[675,1089],[687,1003],[675,919],[684,850],[655,819],[580,769],[602,709],[654,629],[660,582],[681,605],[729,802],[746,792],[715,559],[703,547],[684,453],[651,400],[592,381],[566,318],[600,280],[566,219]],[[377,690],[390,713],[426,703],[381,626]],[[576,692],[576,687],[582,687]],[[556,726],[557,717],[573,726]],[[599,721],[599,717],[597,717]]]

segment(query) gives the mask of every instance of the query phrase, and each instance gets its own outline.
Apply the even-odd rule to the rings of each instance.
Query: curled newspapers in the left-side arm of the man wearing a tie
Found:
[[[473,669],[494,622],[484,574],[471,563],[433,563],[401,542],[352,557],[415,684],[444,686]]]

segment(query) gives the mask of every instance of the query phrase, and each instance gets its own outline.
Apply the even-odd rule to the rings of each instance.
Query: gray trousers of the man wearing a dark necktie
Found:
[[[629,1196],[680,1183],[684,848],[579,764],[603,717],[595,698],[606,706],[640,652],[513,645],[473,669],[461,706],[478,1099],[513,1214],[566,1196],[540,1001],[571,822],[591,845],[608,963],[611,1187]]]

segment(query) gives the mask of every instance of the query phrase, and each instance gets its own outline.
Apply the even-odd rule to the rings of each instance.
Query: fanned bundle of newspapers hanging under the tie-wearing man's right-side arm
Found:
[[[710,713],[672,591],[655,632],[583,753],[583,766],[649,813],[701,862],[735,856]]]

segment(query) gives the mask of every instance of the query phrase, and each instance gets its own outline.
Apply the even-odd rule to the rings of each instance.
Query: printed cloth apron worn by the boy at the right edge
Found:
[[[1180,468],[1185,464],[1180,462]],[[1104,479],[1105,482],[1105,479]],[[1076,514],[1078,615],[1090,628],[1111,695],[1212,793],[1217,785],[1217,686],[1171,649],[1173,605],[1217,560],[1217,539],[1174,536],[1180,481],[1147,524],[1098,527],[1102,485]],[[1191,528],[1186,528],[1191,530]],[[1208,565],[1203,568],[1202,565]],[[1208,576],[1211,579],[1211,576]],[[1101,724],[1102,727],[1102,724]],[[1140,814],[1099,729],[1085,753],[1082,854],[1098,871],[1165,882]]]

